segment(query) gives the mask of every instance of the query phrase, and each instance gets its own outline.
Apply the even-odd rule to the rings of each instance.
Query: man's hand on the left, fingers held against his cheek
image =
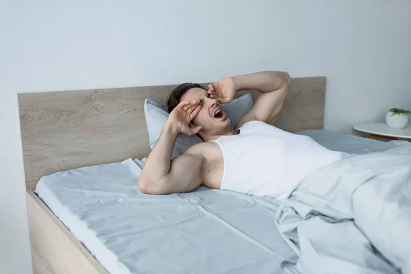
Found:
[[[192,136],[199,133],[203,128],[201,126],[195,127],[190,124],[192,119],[199,114],[201,110],[201,100],[197,99],[195,101],[182,101],[175,107],[175,109],[170,113],[169,120],[167,124],[169,126],[175,127],[177,133],[186,134],[187,136]]]

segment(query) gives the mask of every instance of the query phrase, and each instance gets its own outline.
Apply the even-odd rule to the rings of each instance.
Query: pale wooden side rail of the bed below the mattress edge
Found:
[[[34,274],[108,274],[34,192],[27,208]]]

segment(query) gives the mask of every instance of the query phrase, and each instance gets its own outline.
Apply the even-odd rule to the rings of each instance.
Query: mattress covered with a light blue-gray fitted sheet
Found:
[[[299,134],[349,153],[403,145],[322,130]],[[205,187],[145,195],[137,187],[142,164],[128,159],[53,173],[35,192],[109,273],[295,273],[297,254],[275,225],[279,201]]]

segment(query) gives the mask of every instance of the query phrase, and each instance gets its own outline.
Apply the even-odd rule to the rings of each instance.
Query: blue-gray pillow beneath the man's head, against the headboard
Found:
[[[238,120],[240,120],[242,116],[247,114],[247,112],[253,108],[253,105],[253,99],[248,93],[247,95],[242,95],[241,97],[238,97],[237,99],[221,106],[231,119],[232,127],[234,127]],[[147,124],[147,131],[149,132],[150,147],[152,149],[160,137],[162,128],[166,124],[167,119],[169,119],[169,112],[166,112],[166,110],[164,110],[164,108],[162,108],[162,106],[155,101],[145,99],[144,114]],[[191,147],[199,142],[202,142],[202,140],[197,135],[186,136],[184,134],[180,134],[175,140],[171,159],[181,155],[184,151],[186,151],[186,149],[188,149],[188,147]]]

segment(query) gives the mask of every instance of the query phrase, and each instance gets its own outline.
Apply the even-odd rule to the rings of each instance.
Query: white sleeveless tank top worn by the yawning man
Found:
[[[212,141],[223,151],[221,189],[282,200],[314,169],[350,155],[261,121],[245,123],[239,131]]]

